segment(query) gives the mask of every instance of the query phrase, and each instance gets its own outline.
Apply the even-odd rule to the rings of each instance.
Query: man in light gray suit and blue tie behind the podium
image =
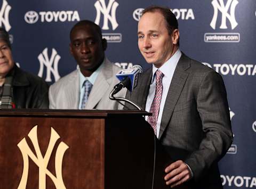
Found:
[[[122,109],[109,93],[118,83],[121,70],[105,56],[106,39],[100,27],[89,20],[79,21],[70,31],[70,52],[79,69],[61,78],[49,89],[50,109]],[[124,97],[126,90],[118,93]],[[89,95],[90,94],[90,95]]]

